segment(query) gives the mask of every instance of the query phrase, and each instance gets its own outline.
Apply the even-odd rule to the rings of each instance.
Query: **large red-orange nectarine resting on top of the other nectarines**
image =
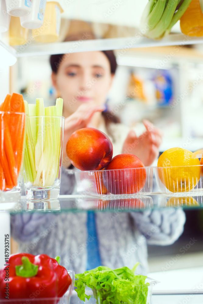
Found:
[[[66,154],[71,164],[80,170],[100,170],[113,156],[109,137],[94,128],[76,130],[66,144]]]

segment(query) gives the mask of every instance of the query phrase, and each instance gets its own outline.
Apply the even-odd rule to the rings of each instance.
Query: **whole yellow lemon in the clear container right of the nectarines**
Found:
[[[192,158],[191,151],[171,148],[158,159],[159,178],[171,192],[188,192],[200,179],[201,166],[198,158]]]

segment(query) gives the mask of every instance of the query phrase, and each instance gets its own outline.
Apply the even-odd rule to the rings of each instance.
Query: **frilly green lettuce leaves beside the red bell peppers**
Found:
[[[137,264],[136,264],[137,266]],[[133,268],[133,271],[136,267]],[[97,302],[102,304],[146,304],[149,283],[145,283],[146,276],[135,275],[128,267],[111,269],[106,266],[76,274],[75,287],[78,297],[85,301],[85,287],[93,289]]]

